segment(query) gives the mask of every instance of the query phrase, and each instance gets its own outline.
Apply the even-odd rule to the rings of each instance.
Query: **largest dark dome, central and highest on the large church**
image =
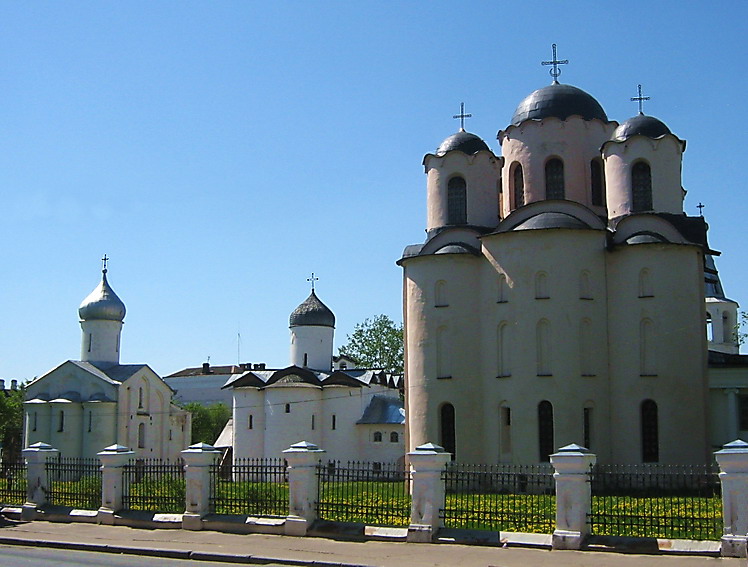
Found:
[[[542,120],[549,116],[566,120],[574,115],[585,120],[608,121],[603,107],[591,95],[571,85],[553,83],[530,93],[520,102],[512,116],[512,124],[519,126],[525,120]]]

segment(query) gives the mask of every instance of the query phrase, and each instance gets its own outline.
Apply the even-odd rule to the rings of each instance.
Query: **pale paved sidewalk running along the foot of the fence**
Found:
[[[748,567],[744,559],[546,551],[459,544],[336,541],[317,537],[144,530],[85,523],[2,522],[0,544],[88,549],[231,563],[372,567]]]

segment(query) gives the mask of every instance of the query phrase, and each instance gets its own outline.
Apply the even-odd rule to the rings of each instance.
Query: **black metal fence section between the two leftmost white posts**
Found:
[[[101,507],[99,459],[55,457],[46,462],[45,469],[49,504],[83,510]]]

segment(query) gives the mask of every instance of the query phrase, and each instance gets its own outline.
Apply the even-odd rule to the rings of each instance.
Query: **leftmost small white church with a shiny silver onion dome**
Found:
[[[63,457],[93,458],[110,445],[138,458],[176,460],[190,443],[191,416],[172,403],[172,389],[146,364],[120,364],[125,304],[107,281],[78,308],[80,360],[67,360],[29,382],[24,447],[44,442]]]

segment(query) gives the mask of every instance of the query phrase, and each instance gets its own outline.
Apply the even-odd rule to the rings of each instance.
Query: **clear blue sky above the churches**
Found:
[[[495,136],[561,82],[609,118],[688,142],[728,296],[748,306],[748,3],[0,0],[0,377],[78,358],[100,278],[128,308],[123,362],[169,374],[288,361],[319,276],[336,345],[401,320],[395,261],[421,242],[421,160],[459,127]]]

